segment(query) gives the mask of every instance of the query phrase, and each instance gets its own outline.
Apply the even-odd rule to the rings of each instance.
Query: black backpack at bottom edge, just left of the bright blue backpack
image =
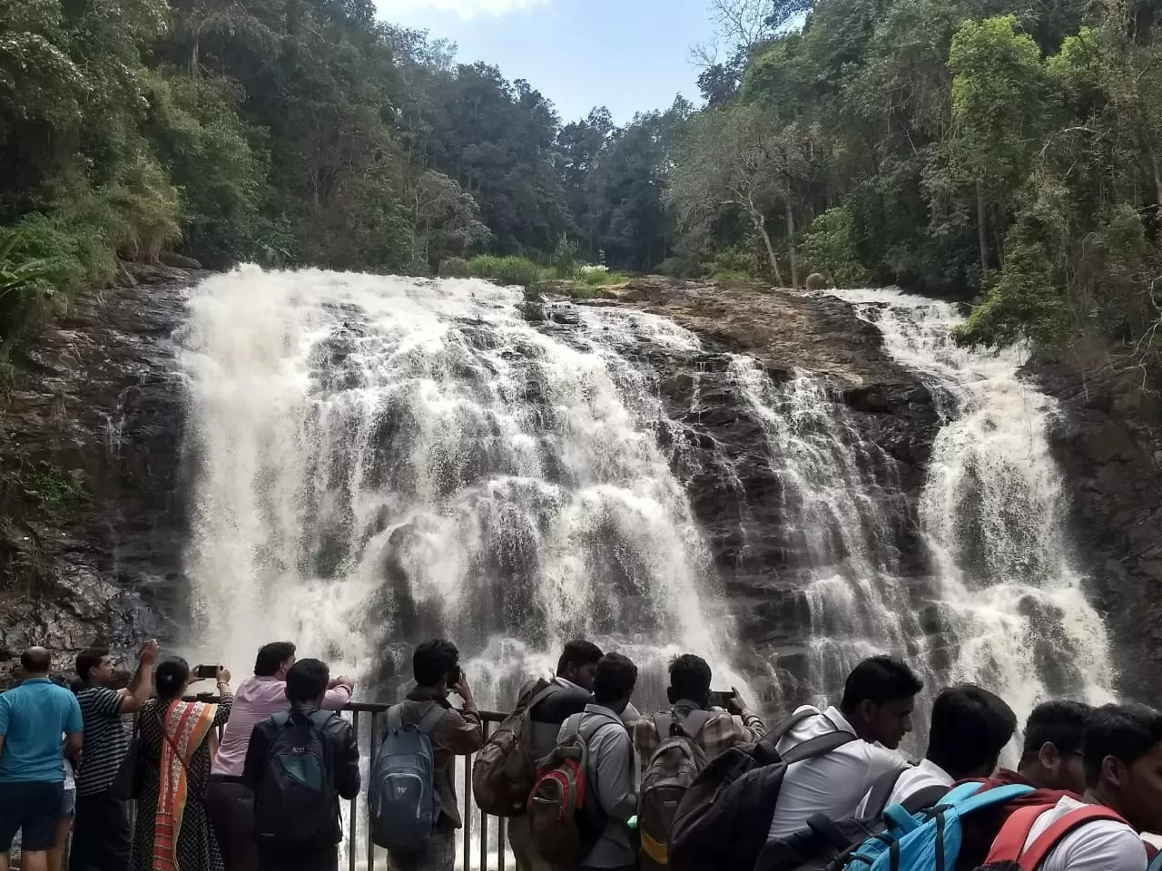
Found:
[[[794,835],[768,841],[759,854],[754,871],[834,871],[844,868],[848,855],[865,841],[881,837],[887,832],[883,812],[904,771],[906,769],[889,771],[873,784],[861,816],[829,820],[824,814],[815,814]],[[939,804],[949,789],[925,786],[899,805],[909,815],[916,814]]]

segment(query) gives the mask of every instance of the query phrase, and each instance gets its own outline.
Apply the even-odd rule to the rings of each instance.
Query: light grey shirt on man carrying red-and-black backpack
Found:
[[[586,771],[588,786],[609,819],[597,843],[580,864],[584,868],[625,868],[637,864],[637,854],[625,825],[638,809],[638,797],[633,789],[633,742],[622,718],[601,705],[586,705],[581,726],[584,727],[594,717],[617,721],[602,726],[594,733],[589,741],[589,766]],[[569,718],[561,725],[559,740],[569,733],[573,720],[574,718]]]

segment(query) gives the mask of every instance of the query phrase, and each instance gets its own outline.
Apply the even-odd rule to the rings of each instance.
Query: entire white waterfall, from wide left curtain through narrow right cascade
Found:
[[[770,714],[788,683],[823,701],[883,652],[930,688],[975,681],[1019,714],[1048,696],[1110,698],[1053,402],[1021,381],[1017,352],[957,347],[955,307],[839,295],[934,397],[918,498],[841,386],[770,373],[659,316],[562,303],[532,324],[516,289],[467,280],[209,279],[177,336],[191,655],[246,674],[259,645],[290,639],[357,675],[361,697],[392,698],[411,647],[439,634],[481,701],[504,705],[584,635],[639,663],[643,707],[664,703],[681,652],[705,656],[718,686],[749,681]],[[772,483],[711,534],[708,517],[734,520],[708,514],[708,481],[747,491],[716,413],[745,418],[746,462]],[[777,503],[776,524],[747,520],[755,499]],[[732,603],[727,539],[765,542],[758,574],[790,603],[777,650],[738,643],[739,609],[775,593]]]

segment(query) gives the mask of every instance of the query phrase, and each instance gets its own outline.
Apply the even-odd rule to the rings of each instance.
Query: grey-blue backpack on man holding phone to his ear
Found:
[[[371,770],[367,807],[371,840],[389,852],[418,854],[439,820],[431,734],[445,710],[433,704],[418,724],[403,724],[402,708],[387,712],[387,736]]]

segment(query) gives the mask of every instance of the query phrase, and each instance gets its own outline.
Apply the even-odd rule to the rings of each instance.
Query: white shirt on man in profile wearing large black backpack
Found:
[[[795,713],[802,711],[812,711],[818,717],[810,717],[791,729],[779,742],[780,753],[837,729],[855,734],[847,718],[834,706],[820,712],[805,705]],[[858,737],[826,756],[792,764],[783,777],[768,837],[787,837],[818,813],[830,820],[854,815],[877,778],[906,766],[908,761],[898,753]]]

